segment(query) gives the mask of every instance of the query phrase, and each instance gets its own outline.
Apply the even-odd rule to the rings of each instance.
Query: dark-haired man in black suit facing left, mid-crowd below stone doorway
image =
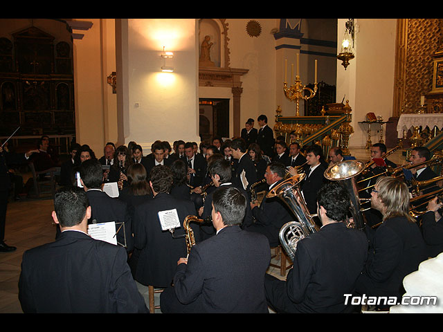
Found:
[[[246,142],[243,138],[235,138],[230,142],[233,158],[238,160],[232,182],[236,187],[242,187],[246,192],[251,185],[257,182],[257,171],[251,158],[249,158]]]

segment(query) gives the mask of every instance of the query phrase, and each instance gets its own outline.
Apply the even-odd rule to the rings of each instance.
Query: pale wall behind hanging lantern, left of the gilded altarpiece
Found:
[[[338,20],[338,50],[343,39],[345,21]],[[352,107],[350,148],[365,147],[368,138],[367,113],[373,112],[387,121],[392,116],[395,71],[395,36],[397,19],[354,19],[356,37],[355,58],[345,71],[337,61],[337,102],[343,95]],[[386,131],[383,127],[383,140]],[[379,140],[379,125],[372,125],[372,144]]]

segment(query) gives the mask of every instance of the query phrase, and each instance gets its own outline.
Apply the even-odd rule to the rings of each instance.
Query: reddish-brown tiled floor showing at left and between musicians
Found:
[[[369,159],[368,151],[364,149],[352,151],[352,155],[363,161]],[[389,159],[397,164],[405,160],[398,150]],[[0,313],[22,313],[17,297],[21,257],[25,250],[55,239],[52,210],[51,199],[17,201],[8,205],[5,241],[9,246],[16,246],[17,250],[0,252]],[[280,279],[285,278],[280,276],[277,268],[269,268],[268,272]]]

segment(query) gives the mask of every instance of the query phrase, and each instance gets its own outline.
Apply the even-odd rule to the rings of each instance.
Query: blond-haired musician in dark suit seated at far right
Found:
[[[381,212],[383,223],[370,238],[368,260],[357,280],[356,293],[399,300],[405,293],[404,277],[427,258],[422,234],[409,214],[406,183],[391,176],[379,177],[372,190],[371,206]],[[381,303],[380,307],[386,306]]]

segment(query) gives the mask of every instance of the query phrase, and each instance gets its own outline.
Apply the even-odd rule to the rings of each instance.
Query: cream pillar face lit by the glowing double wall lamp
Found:
[[[127,100],[118,107],[125,114],[124,143],[134,140],[149,150],[154,140],[199,141],[196,20],[122,19],[122,24]],[[174,73],[161,73],[163,46],[174,52],[167,63]]]

